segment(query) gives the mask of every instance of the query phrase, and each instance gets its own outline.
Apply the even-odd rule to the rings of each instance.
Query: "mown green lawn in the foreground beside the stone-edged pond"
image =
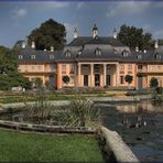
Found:
[[[104,162],[93,135],[24,133],[0,129],[0,162]]]

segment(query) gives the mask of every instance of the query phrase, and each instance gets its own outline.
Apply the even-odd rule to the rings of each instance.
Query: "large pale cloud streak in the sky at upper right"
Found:
[[[140,14],[144,11],[146,11],[150,7],[151,2],[118,2],[115,3],[115,7],[110,10],[108,9],[108,12],[106,13],[106,17],[112,18],[117,15],[131,15],[131,14]]]

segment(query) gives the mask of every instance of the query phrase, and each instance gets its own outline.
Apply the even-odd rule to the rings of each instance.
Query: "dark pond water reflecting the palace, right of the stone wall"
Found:
[[[163,108],[151,101],[97,104],[102,123],[117,131],[141,162],[163,162]]]

